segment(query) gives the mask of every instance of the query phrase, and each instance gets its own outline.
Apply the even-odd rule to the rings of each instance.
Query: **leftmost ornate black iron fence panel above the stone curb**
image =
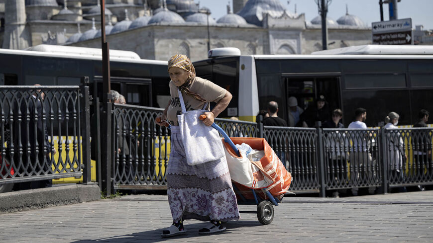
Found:
[[[90,167],[84,100],[86,86],[0,86],[0,185],[82,176]]]

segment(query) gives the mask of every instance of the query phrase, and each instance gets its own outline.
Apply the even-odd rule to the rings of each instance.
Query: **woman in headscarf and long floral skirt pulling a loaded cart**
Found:
[[[171,99],[156,118],[156,123],[160,126],[171,124],[171,153],[166,175],[173,225],[161,236],[184,234],[183,221],[186,219],[210,221],[199,234],[224,231],[222,222],[239,219],[227,162],[223,157],[198,165],[187,164],[177,119],[177,115],[182,114],[178,89],[187,111],[203,109],[206,103],[216,102],[212,111],[204,113],[207,118],[203,122],[207,126],[214,123],[214,118],[227,107],[232,96],[215,83],[196,77],[194,66],[185,55],[170,58],[168,73]],[[209,105],[206,109],[209,110]]]

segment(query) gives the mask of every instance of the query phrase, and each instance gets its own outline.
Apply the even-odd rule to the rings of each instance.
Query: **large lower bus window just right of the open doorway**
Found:
[[[411,103],[408,90],[347,90],[343,91],[343,119],[347,127],[355,119],[355,109],[367,109],[368,127],[375,127],[384,121],[389,112],[400,115],[400,125],[411,124]]]

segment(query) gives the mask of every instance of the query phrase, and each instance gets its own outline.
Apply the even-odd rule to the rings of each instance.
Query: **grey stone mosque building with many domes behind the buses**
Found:
[[[99,0],[11,2],[0,0],[3,48],[101,47]],[[235,13],[227,5],[227,14],[214,19],[210,9],[194,0],[106,0],[107,41],[110,49],[155,60],[168,60],[175,53],[202,60],[208,45],[236,47],[242,54],[322,50],[320,16],[307,21],[304,13],[290,12],[280,0],[233,0],[232,6]],[[327,27],[328,49],[371,43],[371,28],[347,10],[336,21],[328,18]]]

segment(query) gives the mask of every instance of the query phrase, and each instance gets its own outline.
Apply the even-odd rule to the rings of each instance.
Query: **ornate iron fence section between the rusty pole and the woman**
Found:
[[[170,130],[155,124],[163,109],[114,104],[114,189],[165,189]]]

